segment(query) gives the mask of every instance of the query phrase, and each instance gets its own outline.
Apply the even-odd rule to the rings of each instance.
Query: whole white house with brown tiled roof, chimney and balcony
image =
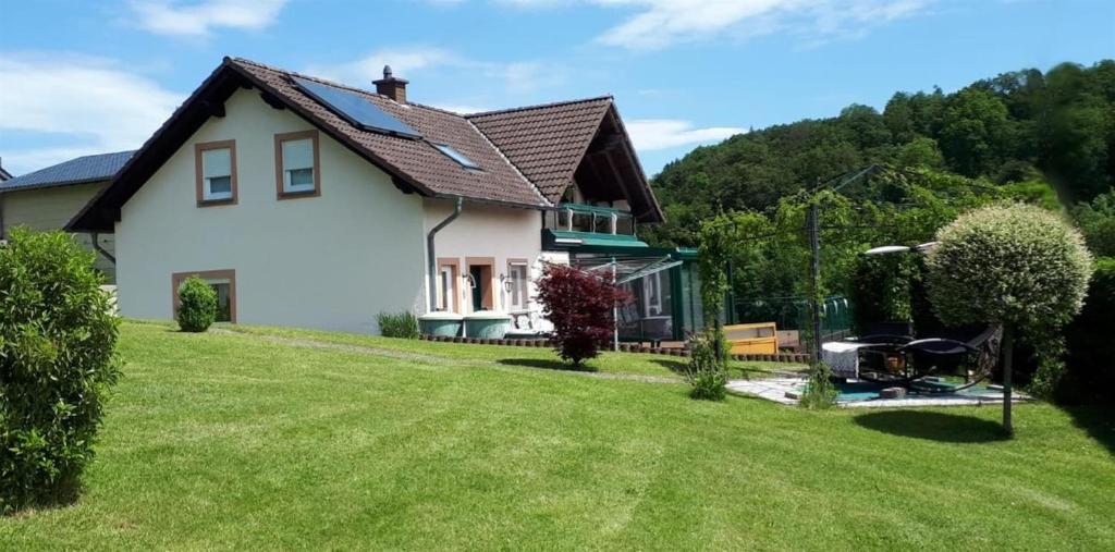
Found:
[[[526,313],[540,260],[662,220],[611,97],[459,115],[375,85],[225,58],[68,226],[115,234],[123,313],[172,318],[190,274],[245,323]]]

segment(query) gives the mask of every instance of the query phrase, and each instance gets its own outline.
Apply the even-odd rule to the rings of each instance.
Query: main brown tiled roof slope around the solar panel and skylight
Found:
[[[537,188],[501,155],[479,130],[465,117],[418,104],[397,104],[375,93],[349,88],[306,75],[298,75],[268,67],[246,59],[234,58],[231,65],[240,68],[270,88],[269,91],[304,109],[319,126],[351,139],[356,145],[398,170],[407,181],[426,188],[433,195],[456,196],[547,206]],[[316,80],[362,96],[380,109],[418,130],[425,138],[409,139],[365,130],[350,124],[294,85],[292,77]],[[428,142],[448,144],[481,166],[467,170]]]

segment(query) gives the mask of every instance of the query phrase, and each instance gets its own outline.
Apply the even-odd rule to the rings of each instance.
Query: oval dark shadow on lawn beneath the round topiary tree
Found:
[[[1008,438],[998,423],[973,416],[920,410],[885,410],[861,414],[853,420],[860,427],[867,429],[941,443],[991,443]]]

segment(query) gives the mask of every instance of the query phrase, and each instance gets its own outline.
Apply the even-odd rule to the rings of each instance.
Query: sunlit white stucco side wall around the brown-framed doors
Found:
[[[453,213],[452,200],[425,200],[425,226],[428,232]],[[507,261],[525,259],[531,267],[527,292],[533,298],[534,280],[540,275],[539,256],[542,252],[542,215],[529,209],[512,209],[483,203],[465,202],[464,209],[453,223],[437,233],[434,244],[437,258],[457,259],[459,274],[468,271],[467,258],[491,256],[495,260],[494,307],[506,312],[507,292],[500,280],[507,274]],[[463,312],[469,312],[468,289],[457,285],[458,304]],[[425,303],[428,310],[428,302]],[[534,301],[530,306],[536,310]]]

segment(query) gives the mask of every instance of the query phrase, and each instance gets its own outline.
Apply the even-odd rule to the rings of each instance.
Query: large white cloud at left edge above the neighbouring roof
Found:
[[[37,144],[6,147],[4,167],[17,174],[137,148],[185,98],[100,58],[0,54],[0,130]]]

